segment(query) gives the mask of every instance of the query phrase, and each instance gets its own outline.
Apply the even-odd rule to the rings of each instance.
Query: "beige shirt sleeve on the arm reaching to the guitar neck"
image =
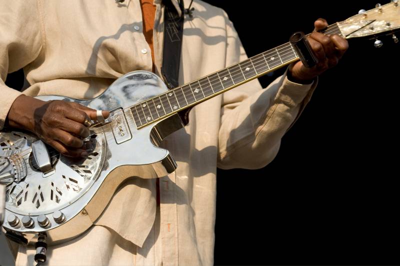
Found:
[[[227,16],[226,16],[227,17]],[[226,66],[247,55],[227,18]],[[276,156],[280,140],[301,114],[316,87],[289,81],[286,73],[263,89],[257,79],[222,96],[218,167],[258,169]]]

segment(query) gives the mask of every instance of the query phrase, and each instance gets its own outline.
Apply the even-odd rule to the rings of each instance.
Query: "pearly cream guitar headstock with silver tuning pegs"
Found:
[[[342,35],[349,39],[355,37],[376,38],[382,34],[392,34],[394,42],[398,39],[394,32],[400,29],[400,1],[392,0],[390,3],[380,5],[365,11],[361,9],[357,15],[337,22]],[[382,42],[375,41],[375,46],[380,47]]]

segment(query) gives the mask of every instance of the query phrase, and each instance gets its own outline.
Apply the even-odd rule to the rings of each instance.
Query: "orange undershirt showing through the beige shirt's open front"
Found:
[[[153,5],[153,0],[140,0],[141,5],[141,17],[143,20],[143,34],[146,39],[148,46],[151,49],[151,59],[153,62],[152,71],[155,71],[154,66],[154,46],[153,46],[153,28],[154,28],[154,17],[155,17],[155,5]],[[155,180],[155,185],[157,188],[157,205],[159,205],[159,179]]]

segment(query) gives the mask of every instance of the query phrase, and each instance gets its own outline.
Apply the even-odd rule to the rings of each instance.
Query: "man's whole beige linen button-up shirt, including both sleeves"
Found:
[[[159,73],[163,6],[154,4]],[[200,0],[192,6],[194,17],[184,22],[181,84],[247,58],[222,9]],[[19,68],[29,83],[23,94],[75,98],[101,94],[126,72],[151,71],[141,21],[139,0],[2,1],[0,128],[21,93],[3,80]],[[262,89],[253,80],[194,107],[189,124],[162,144],[178,168],[160,179],[159,207],[154,179],[130,179],[86,233],[49,247],[48,264],[212,265],[216,168],[256,169],[272,161],[315,83],[300,85],[283,75]],[[19,246],[14,253],[16,265],[32,265],[33,248]]]

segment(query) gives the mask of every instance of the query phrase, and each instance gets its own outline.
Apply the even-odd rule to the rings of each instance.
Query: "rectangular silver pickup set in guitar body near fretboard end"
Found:
[[[107,119],[111,126],[112,134],[116,144],[121,144],[132,138],[128,123],[126,122],[125,113],[122,108],[112,111]]]

